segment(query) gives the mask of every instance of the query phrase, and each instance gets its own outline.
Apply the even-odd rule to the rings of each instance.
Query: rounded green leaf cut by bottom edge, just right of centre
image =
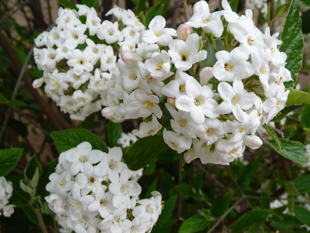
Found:
[[[204,216],[195,214],[182,223],[181,227],[179,228],[179,233],[192,233],[201,231],[209,224],[210,221],[208,221]]]

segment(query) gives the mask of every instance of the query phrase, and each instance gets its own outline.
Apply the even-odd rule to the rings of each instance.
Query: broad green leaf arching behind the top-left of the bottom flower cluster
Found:
[[[71,129],[63,131],[53,131],[51,136],[55,141],[55,145],[60,153],[76,147],[82,142],[89,142],[92,149],[101,150],[108,153],[108,147],[97,135],[89,130]]]

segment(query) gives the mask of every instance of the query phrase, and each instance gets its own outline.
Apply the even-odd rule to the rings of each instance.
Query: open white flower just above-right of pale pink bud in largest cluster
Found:
[[[212,73],[219,81],[241,80],[250,77],[255,70],[253,65],[246,60],[250,52],[245,47],[234,48],[230,53],[219,51],[215,53],[217,62],[212,68]]]

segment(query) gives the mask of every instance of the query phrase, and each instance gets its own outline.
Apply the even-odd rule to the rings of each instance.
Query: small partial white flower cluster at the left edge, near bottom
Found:
[[[2,210],[4,217],[11,217],[11,214],[14,213],[15,205],[8,204],[12,193],[12,182],[7,181],[4,176],[0,176],[0,215],[2,215]]]

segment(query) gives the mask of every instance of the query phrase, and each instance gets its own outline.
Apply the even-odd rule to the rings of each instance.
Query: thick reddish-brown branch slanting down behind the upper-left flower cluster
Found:
[[[20,75],[20,71],[22,71],[22,64],[16,55],[14,49],[11,47],[7,37],[0,33],[0,45],[3,48],[4,52],[7,54],[11,63],[14,64],[14,69],[11,69],[12,74],[17,78]],[[25,85],[29,89],[30,94],[35,99],[36,103],[42,109],[42,111],[47,116],[47,119],[52,123],[55,130],[63,130],[72,128],[69,123],[64,121],[63,117],[60,115],[57,109],[51,107],[44,98],[39,94],[37,89],[34,89],[32,86],[32,79],[28,75],[27,72],[24,72],[22,75]]]

